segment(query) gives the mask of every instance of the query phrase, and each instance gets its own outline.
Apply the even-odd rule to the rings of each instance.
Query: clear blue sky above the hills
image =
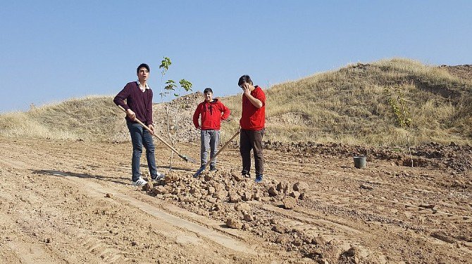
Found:
[[[472,64],[472,1],[4,1],[0,112],[86,95],[116,95],[151,66],[194,91],[240,93],[352,62],[404,57]]]

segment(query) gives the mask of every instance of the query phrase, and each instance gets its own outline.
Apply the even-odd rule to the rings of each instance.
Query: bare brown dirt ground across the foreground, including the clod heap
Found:
[[[130,150],[0,139],[0,263],[472,263],[470,170],[266,150],[256,185],[229,149],[216,173],[174,157],[141,188]]]

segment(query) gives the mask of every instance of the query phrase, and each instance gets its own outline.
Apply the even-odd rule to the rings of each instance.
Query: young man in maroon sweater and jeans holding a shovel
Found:
[[[141,177],[139,172],[139,163],[142,154],[142,146],[146,148],[146,159],[151,180],[160,180],[163,174],[157,171],[156,157],[154,155],[154,142],[152,135],[154,135],[154,125],[152,121],[152,90],[147,85],[149,78],[149,66],[141,64],[136,69],[137,81],[132,81],[126,84],[125,88],[116,95],[113,100],[116,105],[120,105],[126,110],[126,125],[131,135],[132,143],[132,185],[142,186],[147,183]],[[126,100],[126,103],[124,102]],[[152,133],[149,133],[146,128],[143,128],[135,121],[138,119],[146,124]]]

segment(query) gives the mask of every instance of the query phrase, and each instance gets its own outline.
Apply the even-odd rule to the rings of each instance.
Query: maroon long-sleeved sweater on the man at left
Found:
[[[126,103],[124,100],[126,99]],[[121,105],[125,110],[131,109],[136,118],[144,124],[152,124],[152,90],[146,89],[144,93],[139,89],[136,81],[126,84],[113,99],[116,105]],[[128,115],[126,120],[130,121]]]

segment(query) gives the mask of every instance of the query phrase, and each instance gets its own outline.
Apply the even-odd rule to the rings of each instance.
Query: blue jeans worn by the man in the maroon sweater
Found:
[[[139,162],[141,160],[143,145],[146,148],[146,159],[147,166],[149,168],[149,174],[151,174],[151,178],[156,178],[157,168],[156,157],[154,156],[155,147],[154,142],[152,141],[151,133],[149,133],[146,128],[143,128],[137,123],[126,121],[126,125],[130,131],[132,143],[131,180],[136,181],[139,179],[139,177],[141,177],[141,173],[139,173]]]

